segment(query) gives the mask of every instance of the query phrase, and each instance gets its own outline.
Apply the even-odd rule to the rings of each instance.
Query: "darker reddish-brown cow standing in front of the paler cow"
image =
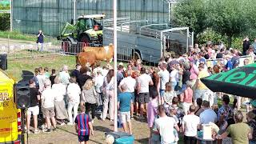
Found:
[[[94,66],[94,64],[97,62],[96,55],[94,52],[81,52],[76,56],[76,62],[81,66]]]

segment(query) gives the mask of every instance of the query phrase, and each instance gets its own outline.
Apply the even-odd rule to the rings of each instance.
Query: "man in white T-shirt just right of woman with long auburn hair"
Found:
[[[158,75],[160,77],[160,96],[161,96],[161,103],[163,104],[163,94],[165,94],[166,90],[166,82],[169,82],[169,71],[167,70],[167,64],[162,63],[160,66],[161,70],[158,72]]]

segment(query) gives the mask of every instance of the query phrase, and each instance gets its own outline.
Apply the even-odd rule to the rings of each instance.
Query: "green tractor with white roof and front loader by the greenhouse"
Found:
[[[78,44],[88,46],[90,43],[102,44],[102,23],[105,14],[90,14],[78,17],[78,22],[71,25],[66,22],[57,39],[62,40],[62,49],[66,53],[78,53]],[[82,43],[81,43],[82,42]],[[76,49],[76,50],[74,50]]]

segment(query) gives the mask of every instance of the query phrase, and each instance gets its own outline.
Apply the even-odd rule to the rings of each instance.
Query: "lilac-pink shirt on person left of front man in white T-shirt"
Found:
[[[147,105],[147,124],[149,127],[153,127],[154,123],[154,116],[158,114],[158,101],[157,99],[153,99]]]

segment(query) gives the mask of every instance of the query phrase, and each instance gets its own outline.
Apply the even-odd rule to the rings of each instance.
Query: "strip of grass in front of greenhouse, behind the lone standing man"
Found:
[[[35,34],[22,34],[18,31],[1,31],[0,30],[0,38],[8,38],[8,35],[10,36],[10,39],[18,39],[18,40],[24,40],[24,41],[31,41],[36,42],[37,36]],[[46,36],[44,38],[45,42],[59,42],[57,38],[50,38]]]

